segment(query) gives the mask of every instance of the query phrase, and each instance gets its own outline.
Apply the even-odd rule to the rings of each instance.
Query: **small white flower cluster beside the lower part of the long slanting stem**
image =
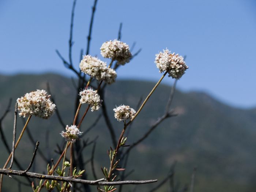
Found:
[[[118,121],[125,121],[128,118],[131,119],[136,113],[136,111],[130,108],[130,106],[128,105],[120,105],[119,107],[113,110],[115,112],[114,116]]]

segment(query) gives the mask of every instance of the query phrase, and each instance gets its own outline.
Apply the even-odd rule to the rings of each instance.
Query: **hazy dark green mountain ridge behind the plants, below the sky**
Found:
[[[9,146],[12,143],[13,110],[16,98],[36,89],[46,89],[47,82],[50,84],[52,97],[55,99],[64,123],[71,124],[76,97],[71,79],[56,74],[0,75],[0,116],[4,113],[9,98],[13,98],[11,113],[8,113],[3,121]],[[119,80],[106,87],[106,107],[117,136],[120,135],[123,124],[114,119],[113,108],[120,104],[136,108],[140,97],[145,98],[154,85],[154,82]],[[170,90],[171,87],[165,84],[159,85],[132,124],[127,144],[139,139],[150,125],[162,116]],[[175,181],[179,181],[181,186],[190,183],[193,167],[197,167],[194,191],[249,192],[256,190],[254,182],[256,109],[233,108],[206,93],[185,93],[179,90],[175,92],[172,109],[178,116],[163,121],[144,142],[132,151],[126,168],[128,172],[132,169],[135,169],[135,172],[127,179],[158,178],[160,182],[168,174],[172,163],[177,161]],[[84,110],[85,106],[82,107],[82,111]],[[82,131],[86,130],[99,114],[101,110],[88,113],[82,124]],[[22,125],[22,118],[19,117],[18,133]],[[63,138],[59,135],[63,127],[60,126],[56,114],[49,120],[32,117],[29,130],[34,139],[41,142],[39,148],[46,151],[45,156],[57,159],[58,155],[54,150],[57,149],[56,143],[63,142]],[[109,166],[106,151],[112,145],[103,117],[90,132],[83,136],[83,139],[93,140],[96,136],[99,138],[95,152],[95,168],[98,178],[102,178],[100,167]],[[47,139],[49,146],[45,144]],[[0,162],[4,164],[8,153],[3,142],[0,142],[0,147],[2,149]],[[25,135],[15,152],[15,157],[24,167],[27,167],[33,150],[34,146]],[[83,154],[84,159],[87,160],[90,154],[91,146],[86,148]],[[17,169],[15,166],[14,168]],[[88,178],[93,179],[90,165],[86,168]],[[38,172],[46,170],[46,164],[39,156],[35,161],[35,169]],[[4,191],[17,191],[16,182],[15,185],[8,185],[11,179],[4,177],[4,180]],[[138,186],[136,190],[147,192],[155,185],[157,184]],[[158,191],[167,191],[167,188],[166,184]],[[124,189],[124,191],[133,190],[133,187],[127,186]]]

